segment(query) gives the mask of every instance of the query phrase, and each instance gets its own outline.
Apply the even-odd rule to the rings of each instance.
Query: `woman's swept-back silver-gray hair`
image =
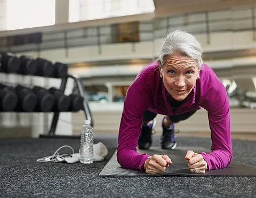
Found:
[[[203,64],[203,50],[201,44],[193,35],[181,30],[175,30],[166,34],[158,57],[158,60],[161,61],[161,68],[163,68],[166,62],[166,57],[175,53],[195,60],[197,67],[201,69]]]

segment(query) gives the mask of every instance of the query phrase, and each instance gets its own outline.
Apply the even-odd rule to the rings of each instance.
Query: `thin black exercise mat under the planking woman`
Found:
[[[206,171],[205,174],[191,174],[185,155],[188,150],[193,150],[196,153],[206,152],[209,153],[203,147],[177,147],[174,151],[162,150],[160,147],[151,147],[150,150],[138,150],[139,153],[147,153],[153,156],[154,154],[166,154],[168,155],[173,164],[166,168],[163,174],[146,174],[143,171],[131,170],[122,168],[116,159],[116,152],[102,169],[99,177],[159,177],[159,176],[192,176],[192,177],[256,177],[256,168],[246,166],[245,164],[236,163],[232,161],[227,168],[219,170]]]

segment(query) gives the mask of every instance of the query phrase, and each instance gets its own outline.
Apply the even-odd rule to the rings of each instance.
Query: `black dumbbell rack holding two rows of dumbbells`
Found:
[[[40,135],[40,137],[80,138],[75,135],[55,135],[60,112],[76,112],[83,110],[86,119],[91,121],[91,126],[93,127],[92,113],[89,108],[87,97],[84,94],[85,90],[81,79],[79,79],[78,76],[68,74],[67,64],[61,62],[52,64],[49,60],[39,57],[37,59],[33,59],[33,57],[26,55],[18,57],[14,53],[0,51],[0,72],[61,78],[60,89],[51,88],[47,90],[37,86],[33,89],[26,87],[16,87],[14,89],[13,87],[8,86],[2,86],[2,88],[0,88],[0,111],[54,112],[49,135]],[[66,96],[64,94],[68,78],[75,81],[76,87],[78,88],[78,95],[70,94],[69,96]],[[37,102],[34,106],[35,96]]]

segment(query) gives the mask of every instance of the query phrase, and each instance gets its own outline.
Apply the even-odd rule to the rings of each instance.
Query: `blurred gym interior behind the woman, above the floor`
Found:
[[[0,137],[79,135],[86,116],[95,134],[117,134],[127,88],[172,29],[201,42],[204,62],[229,95],[233,137],[255,137],[255,0],[0,0],[0,106],[3,93],[18,95],[17,105],[28,93],[37,101],[54,96],[50,109],[0,107]],[[61,97],[71,101],[69,108],[58,109]],[[75,101],[78,109],[70,110]],[[177,129],[210,136],[207,112],[199,110]]]

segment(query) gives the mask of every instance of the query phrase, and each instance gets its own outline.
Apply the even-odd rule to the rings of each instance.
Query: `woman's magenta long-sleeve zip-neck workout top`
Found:
[[[225,87],[206,64],[200,78],[175,113],[166,100],[166,89],[159,75],[157,61],[143,68],[127,90],[119,126],[117,161],[123,168],[142,170],[147,153],[137,152],[143,113],[146,110],[163,114],[181,114],[204,108],[211,130],[211,152],[200,154],[209,170],[226,168],[233,157],[231,148],[229,101]]]

